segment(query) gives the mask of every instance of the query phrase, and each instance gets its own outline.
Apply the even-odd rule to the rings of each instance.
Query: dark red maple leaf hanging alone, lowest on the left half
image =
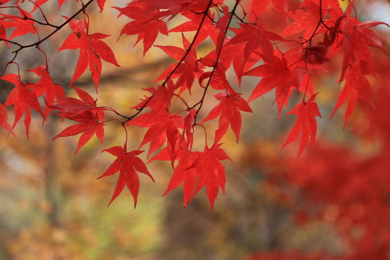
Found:
[[[115,186],[114,193],[110,202],[108,203],[108,206],[110,206],[112,201],[117,198],[119,194],[121,194],[126,185],[131,192],[131,195],[133,195],[135,208],[137,206],[138,191],[140,189],[140,180],[138,178],[137,171],[139,173],[144,173],[145,175],[149,176],[153,182],[154,180],[152,175],[147,170],[144,162],[142,162],[142,160],[137,157],[137,155],[140,155],[144,151],[135,150],[128,152],[126,150],[126,144],[124,145],[124,147],[125,148],[123,148],[122,146],[113,146],[111,148],[103,150],[111,153],[117,158],[108,167],[108,169],[106,169],[103,175],[98,177],[98,179],[114,175],[119,171],[117,185]]]

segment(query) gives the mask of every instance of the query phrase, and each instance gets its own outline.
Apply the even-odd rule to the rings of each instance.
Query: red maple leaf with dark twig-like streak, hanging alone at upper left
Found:
[[[69,19],[66,16],[62,16],[65,19]],[[64,43],[58,48],[58,52],[65,49],[79,49],[80,56],[77,60],[76,69],[71,80],[71,84],[76,81],[89,67],[92,73],[92,80],[95,83],[95,89],[97,93],[97,84],[101,75],[101,59],[106,62],[110,62],[119,67],[114,53],[111,48],[101,39],[108,37],[107,34],[101,34],[99,32],[89,34],[87,20],[71,20],[69,26],[73,30],[73,33],[65,39]]]

